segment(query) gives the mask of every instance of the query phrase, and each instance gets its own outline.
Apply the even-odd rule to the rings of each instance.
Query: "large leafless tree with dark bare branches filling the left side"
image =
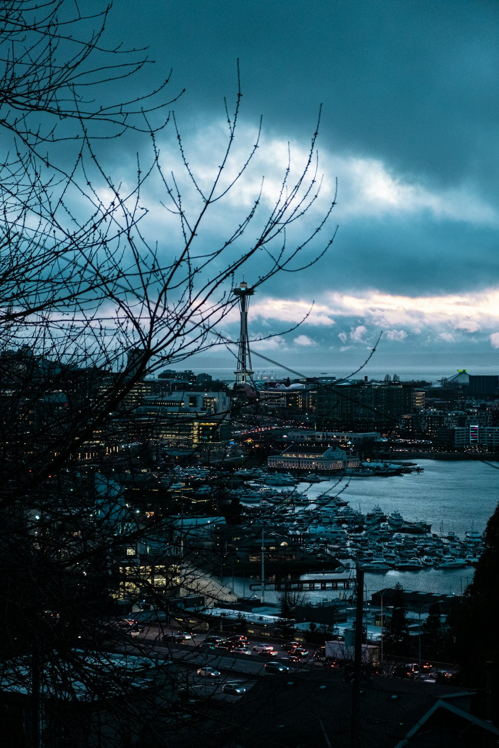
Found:
[[[67,0],[11,0],[0,8],[0,675],[4,696],[31,694],[34,746],[58,744],[64,729],[83,741],[85,731],[73,729],[73,705],[96,694],[88,745],[128,744],[134,731],[149,735],[133,696],[144,662],[122,667],[77,654],[75,646],[102,653],[120,646],[120,636],[123,646],[113,623],[113,604],[123,595],[147,597],[171,616],[165,598],[180,587],[202,591],[208,601],[218,588],[202,577],[209,551],[190,543],[182,526],[175,529],[168,512],[144,518],[123,500],[114,454],[105,458],[100,450],[102,435],[144,375],[227,342],[219,329],[235,304],[234,275],[255,254],[265,257],[255,286],[309,267],[304,248],[325,230],[334,205],[331,197],[307,233],[304,217],[321,185],[314,132],[298,176],[292,178],[291,161],[283,165],[274,205],[266,209],[257,191],[248,212],[212,245],[204,234],[209,215],[245,179],[260,137],[231,173],[239,81],[232,113],[225,108],[224,152],[209,165],[206,185],[170,112],[178,94],[168,100],[168,81],[150,96],[105,103],[103,91],[148,64],[140,52],[105,48],[110,12],[83,16]],[[180,172],[162,156],[159,132],[168,128]],[[134,180],[123,183],[108,174],[100,142],[112,148],[131,132],[147,141],[146,155]],[[150,238],[149,186],[162,190],[169,245]],[[314,260],[331,242],[322,241]],[[114,444],[123,446],[123,435]],[[137,461],[130,455],[120,469],[132,480]],[[141,548],[154,543],[163,557],[152,569],[141,565]],[[180,555],[176,544],[183,545]],[[120,562],[128,548],[129,565]],[[164,582],[161,595],[155,574]],[[165,668],[156,670],[150,709],[166,698]],[[59,736],[49,735],[48,724]]]

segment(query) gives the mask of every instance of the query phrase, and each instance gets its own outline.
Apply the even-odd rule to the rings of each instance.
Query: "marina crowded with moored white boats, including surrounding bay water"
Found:
[[[358,562],[367,589],[400,583],[404,589],[460,595],[473,578],[482,533],[498,503],[499,464],[422,460],[418,465],[424,470],[383,481],[341,476],[298,482],[295,490],[307,503],[293,503],[287,486],[281,500],[266,497],[270,506],[254,511],[301,539],[310,559],[331,557],[351,570]],[[307,595],[317,601],[334,594],[327,587]]]

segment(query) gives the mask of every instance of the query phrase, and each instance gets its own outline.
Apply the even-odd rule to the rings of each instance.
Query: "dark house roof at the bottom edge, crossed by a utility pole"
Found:
[[[350,748],[352,688],[352,683],[344,681],[342,672],[322,668],[260,678],[233,711],[236,725],[232,729],[227,727],[225,740],[218,735],[218,745]],[[363,680],[358,719],[361,745],[402,747],[405,745],[402,741],[408,740],[414,726],[456,691],[447,685],[424,681],[381,676]],[[468,715],[465,710],[454,707],[456,709],[461,715]],[[474,717],[468,717],[476,724]],[[492,737],[497,740],[495,733]],[[410,741],[408,745],[411,746]],[[457,745],[459,743],[453,743]]]

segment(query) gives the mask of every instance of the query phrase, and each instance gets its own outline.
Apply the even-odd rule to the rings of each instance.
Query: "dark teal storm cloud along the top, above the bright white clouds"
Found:
[[[334,148],[443,182],[481,181],[485,169],[487,181],[498,12],[495,2],[460,0],[156,1],[129,12],[128,29],[157,67],[174,68],[190,111],[216,111],[239,58],[245,111],[288,135],[310,132],[324,102],[322,133]]]

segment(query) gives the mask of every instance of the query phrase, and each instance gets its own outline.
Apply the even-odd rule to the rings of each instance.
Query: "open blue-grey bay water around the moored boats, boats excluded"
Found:
[[[401,458],[402,459],[402,458]],[[466,530],[483,533],[489,517],[499,502],[499,462],[414,460],[424,468],[423,473],[410,473],[390,478],[355,478],[347,482],[341,497],[352,509],[365,515],[374,506],[385,514],[398,511],[405,520],[424,520],[432,525],[432,532],[444,535],[453,532],[462,538]],[[305,488],[304,484],[299,489]],[[330,491],[337,494],[343,481],[328,480],[313,484],[307,491],[310,497]],[[301,509],[301,511],[307,511]],[[310,511],[313,511],[311,509]],[[474,568],[442,571],[428,568],[422,571],[388,571],[384,574],[365,574],[367,592],[393,587],[398,582],[406,590],[441,592],[461,595],[473,579]],[[307,574],[304,578],[312,575]],[[320,574],[313,574],[319,578]],[[331,574],[324,574],[331,577]],[[227,580],[226,580],[227,583]],[[236,593],[243,589],[248,595],[248,580],[234,580]],[[331,594],[331,593],[330,593]],[[307,592],[307,598],[320,601],[327,592]],[[272,601],[274,595],[266,592]]]

